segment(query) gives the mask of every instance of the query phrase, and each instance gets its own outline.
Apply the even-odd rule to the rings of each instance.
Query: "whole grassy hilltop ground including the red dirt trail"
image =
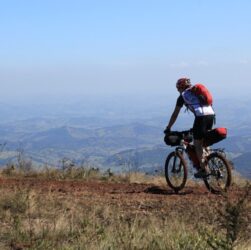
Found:
[[[212,195],[163,177],[65,166],[0,175],[0,249],[250,249],[250,186]]]

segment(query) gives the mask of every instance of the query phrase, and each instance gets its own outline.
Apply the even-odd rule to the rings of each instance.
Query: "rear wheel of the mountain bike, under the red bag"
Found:
[[[207,189],[212,193],[227,191],[232,182],[231,166],[220,153],[214,152],[207,157],[208,177],[204,178]]]

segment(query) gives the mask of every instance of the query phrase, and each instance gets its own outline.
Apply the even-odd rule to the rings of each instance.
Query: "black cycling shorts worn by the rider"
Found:
[[[213,128],[215,115],[205,115],[195,117],[193,124],[193,137],[195,140],[204,138],[205,133]]]

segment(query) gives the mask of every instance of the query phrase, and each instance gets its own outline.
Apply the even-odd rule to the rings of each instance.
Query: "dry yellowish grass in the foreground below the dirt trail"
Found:
[[[189,213],[165,217],[114,205],[90,207],[71,196],[29,189],[1,193],[1,249],[213,249],[208,240],[214,249],[233,249],[224,228],[194,224]],[[235,249],[248,246],[241,241]]]

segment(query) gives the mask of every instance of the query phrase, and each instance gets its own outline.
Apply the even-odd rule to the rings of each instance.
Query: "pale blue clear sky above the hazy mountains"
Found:
[[[250,0],[0,0],[0,98],[251,95]]]

